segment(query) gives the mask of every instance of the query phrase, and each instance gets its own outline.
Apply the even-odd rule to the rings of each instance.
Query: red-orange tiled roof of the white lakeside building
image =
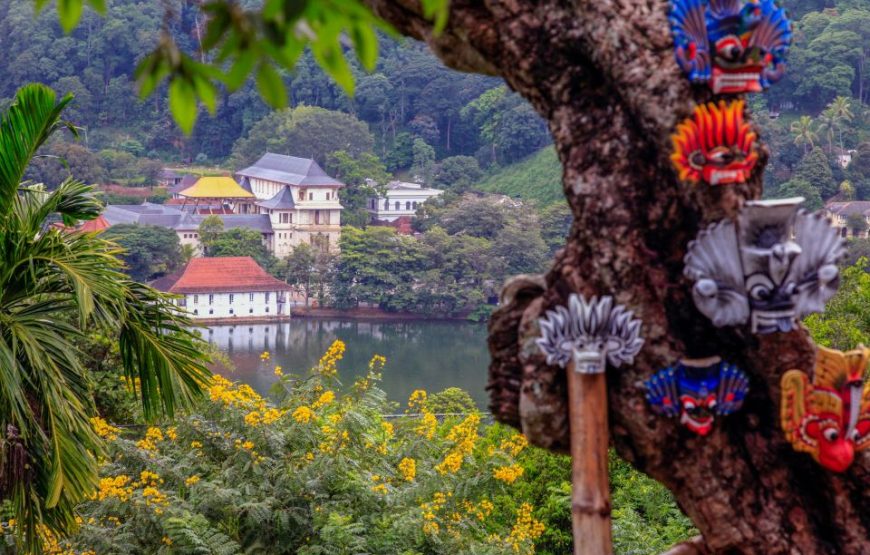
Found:
[[[290,286],[269,275],[250,256],[194,258],[170,293],[235,293],[289,291]]]

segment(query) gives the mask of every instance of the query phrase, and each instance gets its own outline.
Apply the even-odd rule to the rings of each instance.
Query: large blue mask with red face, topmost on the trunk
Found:
[[[791,22],[774,0],[672,0],[677,63],[714,94],[759,92],[785,73]]]

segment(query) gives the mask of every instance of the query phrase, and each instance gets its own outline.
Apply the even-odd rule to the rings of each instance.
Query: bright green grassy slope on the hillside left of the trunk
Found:
[[[474,188],[535,200],[541,206],[565,199],[562,194],[562,166],[551,146],[516,164],[496,170]]]

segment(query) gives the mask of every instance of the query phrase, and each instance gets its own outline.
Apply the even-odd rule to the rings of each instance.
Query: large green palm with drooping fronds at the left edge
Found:
[[[146,418],[172,416],[208,380],[206,355],[172,301],[121,273],[117,245],[47,226],[97,217],[91,187],[55,191],[23,181],[72,97],[43,85],[18,91],[0,114],[0,499],[23,550],[41,553],[40,525],[66,534],[94,491],[101,440],[89,417],[88,371],[73,341],[86,329],[118,336],[124,373]]]

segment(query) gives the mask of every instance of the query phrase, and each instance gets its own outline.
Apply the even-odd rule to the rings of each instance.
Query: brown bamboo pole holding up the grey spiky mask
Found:
[[[566,371],[574,555],[611,555],[607,382],[603,372],[575,372],[573,360]]]

